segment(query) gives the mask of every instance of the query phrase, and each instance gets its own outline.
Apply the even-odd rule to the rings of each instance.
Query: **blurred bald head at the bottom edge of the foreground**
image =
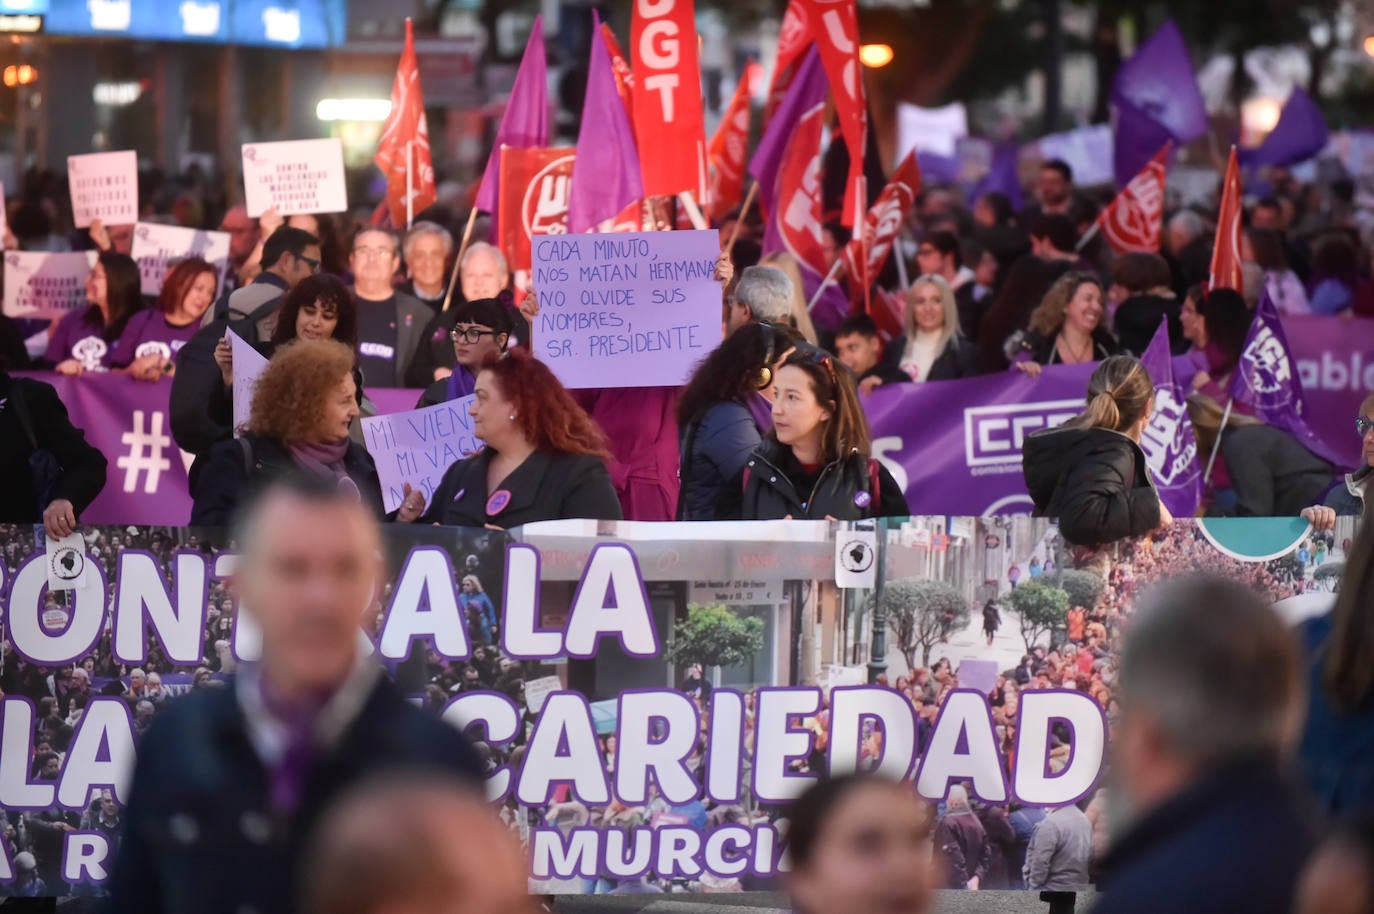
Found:
[[[302,914],[539,914],[519,841],[475,792],[387,778],[316,830]]]

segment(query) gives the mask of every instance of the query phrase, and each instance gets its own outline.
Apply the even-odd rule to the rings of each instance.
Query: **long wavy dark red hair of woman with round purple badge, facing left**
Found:
[[[610,458],[606,436],[592,418],[548,366],[525,349],[491,353],[478,370],[478,377],[482,374],[491,374],[515,405],[515,422],[537,449]]]

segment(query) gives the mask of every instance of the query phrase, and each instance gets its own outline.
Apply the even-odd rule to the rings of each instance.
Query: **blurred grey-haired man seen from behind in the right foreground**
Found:
[[[1281,764],[1304,678],[1292,632],[1238,583],[1186,577],[1142,601],[1112,739],[1131,821],[1098,914],[1292,910],[1312,832]]]

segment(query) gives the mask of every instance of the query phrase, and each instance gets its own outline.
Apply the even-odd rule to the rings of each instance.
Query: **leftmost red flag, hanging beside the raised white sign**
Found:
[[[386,205],[392,210],[392,224],[409,228],[415,213],[438,199],[409,19],[405,21],[405,49],[396,67],[396,82],[392,84],[392,113],[386,115],[374,161],[382,175],[386,175]]]

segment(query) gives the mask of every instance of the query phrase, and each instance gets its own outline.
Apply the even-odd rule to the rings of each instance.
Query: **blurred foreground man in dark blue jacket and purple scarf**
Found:
[[[471,745],[363,647],[386,569],[357,498],[283,477],[245,507],[231,586],[261,660],[169,702],[143,735],[110,911],[294,911],[302,838],[338,796],[383,774],[481,788]]]

